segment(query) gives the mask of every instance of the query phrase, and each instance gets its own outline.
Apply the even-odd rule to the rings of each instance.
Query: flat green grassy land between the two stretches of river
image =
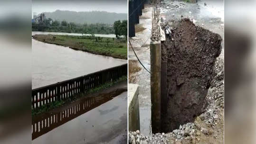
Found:
[[[34,39],[56,45],[68,46],[92,54],[112,56],[127,59],[126,38],[109,38],[96,36],[63,36],[63,35],[35,35]]]

